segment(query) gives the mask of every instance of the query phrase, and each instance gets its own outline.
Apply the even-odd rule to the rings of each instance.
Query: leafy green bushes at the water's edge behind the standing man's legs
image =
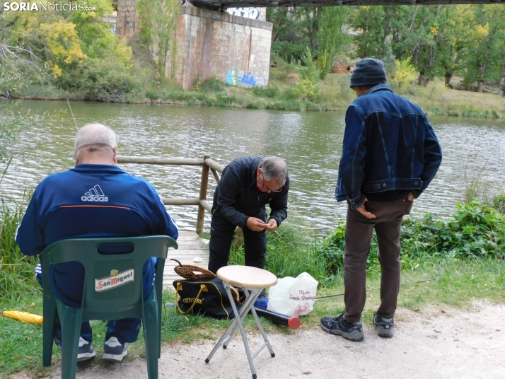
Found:
[[[505,209],[505,195],[494,198],[494,206]],[[422,218],[406,217],[400,234],[402,250],[400,262],[403,269],[414,269],[419,260],[444,260],[446,258],[476,259],[505,258],[505,216],[492,206],[475,200],[456,204],[451,218],[437,220],[433,214]],[[345,223],[318,246],[318,255],[327,262],[331,273],[341,272],[344,266]],[[377,242],[372,237],[367,269],[375,269],[378,262]]]

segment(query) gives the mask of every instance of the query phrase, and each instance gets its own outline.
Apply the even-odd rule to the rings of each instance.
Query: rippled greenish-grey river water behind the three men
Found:
[[[291,177],[289,220],[305,223],[323,236],[345,218],[346,204],[334,197],[342,151],[344,113],[244,110],[151,104],[71,102],[77,125],[100,122],[115,130],[118,154],[202,158],[226,165],[238,156],[281,156]],[[33,190],[46,175],[74,165],[76,125],[65,101],[22,101],[16,110],[53,116],[24,130],[13,150],[13,164],[0,185],[11,203]],[[414,211],[448,215],[465,198],[470,180],[479,178],[489,192],[505,182],[505,121],[429,117],[443,149],[443,161]],[[201,167],[122,165],[149,180],[161,197],[198,197]],[[211,199],[216,183],[209,179]],[[196,206],[168,206],[182,230],[195,230]],[[205,228],[209,228],[206,216]]]

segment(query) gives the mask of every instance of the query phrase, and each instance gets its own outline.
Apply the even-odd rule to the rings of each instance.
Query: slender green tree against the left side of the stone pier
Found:
[[[149,40],[158,68],[158,85],[165,78],[167,54],[175,49],[175,28],[180,14],[179,0],[139,0],[137,12],[141,21],[141,33]],[[174,51],[172,57],[175,57]],[[175,62],[173,62],[175,63]]]

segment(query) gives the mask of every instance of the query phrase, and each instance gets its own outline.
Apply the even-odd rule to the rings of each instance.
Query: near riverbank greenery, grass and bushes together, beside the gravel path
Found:
[[[504,197],[495,197],[491,204],[470,202],[459,205],[451,218],[438,219],[434,215],[409,217],[402,231],[402,288],[398,305],[410,310],[431,306],[468,308],[472,301],[505,303],[505,218]],[[21,211],[21,209],[20,209]],[[13,226],[22,212],[4,210],[1,214],[1,238],[10,240]],[[306,226],[286,223],[277,233],[269,234],[267,269],[278,276],[296,276],[306,271],[319,281],[314,311],[302,320],[303,329],[318,326],[320,317],[337,315],[344,309],[342,276],[344,226],[339,224],[334,233],[323,241],[315,240]],[[243,247],[234,245],[231,260],[240,263]],[[381,270],[376,260],[376,244],[371,247],[367,274],[367,301],[363,321],[371,324],[373,310],[379,301]],[[0,257],[0,310],[20,310],[42,314],[42,296],[33,279],[36,260],[25,262],[13,243],[2,245]],[[23,269],[15,269],[23,267]],[[172,291],[166,291],[163,304],[175,301]],[[105,324],[93,322],[94,347],[101,356]],[[180,315],[175,308],[163,308],[164,342],[190,343],[198,339],[215,339],[226,321],[195,315]],[[253,320],[246,320],[253,330]],[[291,333],[265,321],[267,333]],[[13,371],[25,371],[31,377],[47,376],[59,366],[59,350],[54,349],[54,365],[42,367],[42,326],[23,324],[0,316],[0,375],[9,378]],[[144,356],[142,336],[129,344],[126,361]],[[106,365],[95,359],[85,366]]]

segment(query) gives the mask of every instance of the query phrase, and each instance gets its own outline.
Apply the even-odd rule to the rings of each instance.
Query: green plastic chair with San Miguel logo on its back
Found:
[[[129,252],[101,254],[107,247],[125,246]],[[59,240],[47,246],[40,255],[43,285],[42,364],[51,366],[56,310],[62,324],[62,378],[76,376],[77,350],[81,322],[141,318],[146,344],[149,379],[158,378],[161,354],[161,295],[163,269],[168,247],[178,244],[166,235],[125,238],[74,238]],[[142,267],[150,257],[158,257],[154,289],[144,299]],[[81,262],[85,270],[81,308],[64,305],[51,291],[50,264]]]

